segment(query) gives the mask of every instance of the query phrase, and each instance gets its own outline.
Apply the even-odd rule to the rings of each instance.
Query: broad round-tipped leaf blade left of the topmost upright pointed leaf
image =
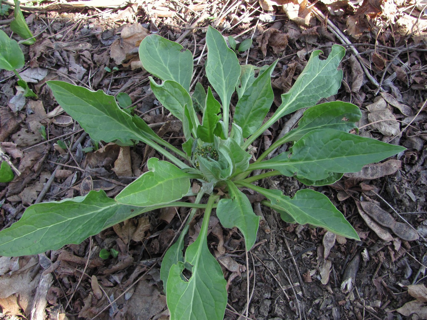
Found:
[[[160,35],[149,35],[141,41],[139,58],[143,67],[152,75],[181,84],[190,90],[193,74],[193,55],[180,44],[169,41]]]

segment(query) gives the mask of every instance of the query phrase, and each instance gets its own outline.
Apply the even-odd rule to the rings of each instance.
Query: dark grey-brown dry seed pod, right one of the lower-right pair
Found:
[[[389,212],[381,209],[376,204],[363,201],[360,205],[371,218],[382,226],[390,228],[399,238],[406,241],[414,241],[419,238],[418,232],[414,228],[407,224],[396,222]]]

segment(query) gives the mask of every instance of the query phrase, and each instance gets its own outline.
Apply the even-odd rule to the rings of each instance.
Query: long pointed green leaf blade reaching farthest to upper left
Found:
[[[91,91],[64,81],[47,81],[56,101],[77,120],[92,139],[127,143],[140,139],[132,116],[121,110],[113,96]]]

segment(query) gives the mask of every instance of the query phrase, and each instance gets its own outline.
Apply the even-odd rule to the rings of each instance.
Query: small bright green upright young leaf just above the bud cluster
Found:
[[[197,137],[203,142],[213,143],[213,132],[219,119],[221,119],[221,116],[218,115],[221,112],[221,105],[213,97],[211,87],[208,87],[208,95],[205,101],[202,125],[197,127]]]

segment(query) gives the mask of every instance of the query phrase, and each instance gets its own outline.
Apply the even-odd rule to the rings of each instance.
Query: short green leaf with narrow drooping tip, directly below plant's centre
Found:
[[[239,228],[250,250],[257,239],[260,217],[255,215],[248,197],[233,182],[227,181],[227,186],[230,199],[219,200],[216,216],[224,227]]]

